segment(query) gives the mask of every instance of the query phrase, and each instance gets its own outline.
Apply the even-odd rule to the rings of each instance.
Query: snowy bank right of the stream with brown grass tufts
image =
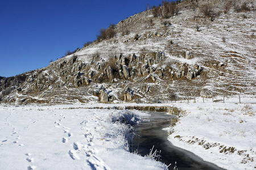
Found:
[[[255,99],[233,101],[179,104],[186,113],[167,129],[173,132],[168,139],[221,168],[256,169]]]

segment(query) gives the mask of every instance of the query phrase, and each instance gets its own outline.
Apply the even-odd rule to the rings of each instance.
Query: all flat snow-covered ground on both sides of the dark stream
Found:
[[[169,140],[225,169],[256,168],[256,99],[201,98],[165,104],[0,105],[0,169],[164,169],[160,162],[131,154],[112,115],[124,111],[84,109],[155,105],[185,111]],[[147,113],[135,111],[140,116]]]

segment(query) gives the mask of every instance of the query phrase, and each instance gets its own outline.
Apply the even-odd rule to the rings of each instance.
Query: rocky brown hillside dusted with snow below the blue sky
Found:
[[[250,9],[236,11],[246,2]],[[209,3],[213,15],[201,7]],[[181,1],[170,18],[152,10],[115,25],[95,41],[42,69],[1,79],[2,103],[83,103],[181,99],[208,88],[255,96],[255,1]],[[236,4],[235,4],[236,3]],[[127,31],[123,33],[124,31]],[[105,96],[105,97],[104,97]]]

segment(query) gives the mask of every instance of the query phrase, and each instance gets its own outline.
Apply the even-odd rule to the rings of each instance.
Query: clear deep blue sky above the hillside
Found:
[[[126,17],[158,0],[0,0],[0,76],[49,65],[67,50],[82,48]]]

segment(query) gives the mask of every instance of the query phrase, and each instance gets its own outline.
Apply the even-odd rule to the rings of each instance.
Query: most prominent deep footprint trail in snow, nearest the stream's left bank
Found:
[[[61,117],[65,118],[65,116],[63,114],[59,114]],[[64,128],[64,133],[66,133],[67,135],[65,137],[63,137],[61,139],[61,142],[63,143],[67,143],[69,141],[71,141],[71,138],[73,137],[73,133],[71,133],[71,129],[70,128],[67,128],[63,125],[61,125],[61,120],[62,119],[59,119],[59,121],[56,121],[55,122],[55,127],[56,128]],[[95,121],[95,120],[93,120]],[[95,121],[97,123],[97,125],[99,126],[99,122],[98,120]],[[70,156],[71,159],[73,160],[80,160],[80,156],[86,156],[86,161],[88,162],[88,164],[90,165],[90,167],[92,169],[104,169],[104,170],[107,170],[107,169],[110,169],[109,167],[107,167],[106,165],[104,165],[104,161],[101,160],[100,158],[98,158],[98,156],[94,155],[95,154],[95,148],[93,148],[92,146],[94,145],[93,143],[93,140],[94,140],[94,134],[92,131],[90,131],[89,128],[86,128],[86,126],[88,126],[88,121],[82,121],[80,123],[81,125],[81,129],[82,130],[86,130],[86,133],[84,133],[84,137],[85,137],[85,142],[86,142],[86,145],[84,144],[81,144],[79,142],[73,142],[73,148],[71,150],[68,151],[68,154]],[[96,128],[94,128],[96,129]]]

